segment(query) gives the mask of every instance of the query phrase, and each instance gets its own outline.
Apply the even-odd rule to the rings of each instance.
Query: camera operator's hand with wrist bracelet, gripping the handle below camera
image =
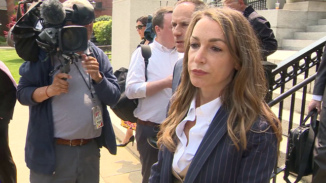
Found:
[[[68,93],[69,82],[63,78],[71,79],[71,75],[67,73],[58,73],[53,77],[52,84],[47,88],[46,94],[49,97],[60,95],[61,93]]]

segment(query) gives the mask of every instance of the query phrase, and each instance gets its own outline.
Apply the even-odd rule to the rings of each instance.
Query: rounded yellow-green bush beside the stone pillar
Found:
[[[99,21],[93,26],[96,40],[104,45],[111,45],[112,40],[112,20]]]

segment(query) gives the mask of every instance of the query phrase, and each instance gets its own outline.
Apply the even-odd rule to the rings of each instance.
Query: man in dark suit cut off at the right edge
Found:
[[[326,181],[326,49],[319,66],[315,86],[313,91],[313,99],[311,100],[308,110],[309,112],[317,108],[320,116],[320,123],[314,148],[314,172],[311,183],[325,183]],[[322,106],[323,101],[323,106]]]

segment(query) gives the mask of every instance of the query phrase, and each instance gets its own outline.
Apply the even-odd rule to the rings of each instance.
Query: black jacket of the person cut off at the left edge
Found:
[[[12,119],[16,99],[16,87],[9,76],[0,70],[0,117],[3,120]]]

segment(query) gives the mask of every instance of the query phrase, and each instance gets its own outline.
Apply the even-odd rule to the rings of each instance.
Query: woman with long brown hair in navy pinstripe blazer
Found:
[[[229,8],[195,13],[150,183],[268,183],[282,140],[259,41]]]

